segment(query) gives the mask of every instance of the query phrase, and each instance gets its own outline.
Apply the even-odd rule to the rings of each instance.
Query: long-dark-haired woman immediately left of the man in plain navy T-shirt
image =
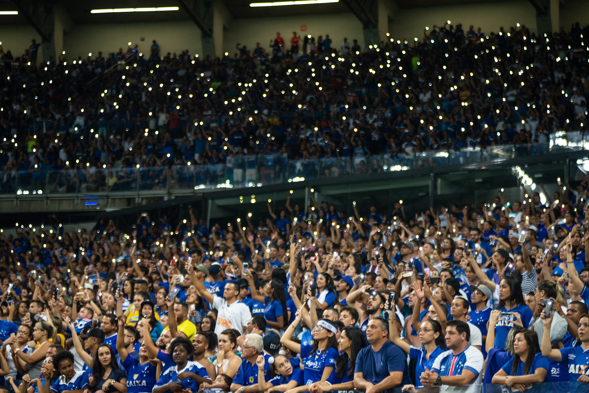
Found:
[[[354,388],[354,369],[360,349],[366,346],[364,333],[356,326],[346,326],[337,340],[337,350],[342,352],[335,362],[337,383],[330,385],[323,382],[319,385],[319,393],[326,391],[349,390]]]

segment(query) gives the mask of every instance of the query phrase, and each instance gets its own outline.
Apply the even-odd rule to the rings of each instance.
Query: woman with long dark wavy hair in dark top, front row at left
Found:
[[[96,354],[94,365],[92,365],[90,390],[102,391],[102,393],[127,393],[127,374],[118,366],[111,346],[98,345]]]

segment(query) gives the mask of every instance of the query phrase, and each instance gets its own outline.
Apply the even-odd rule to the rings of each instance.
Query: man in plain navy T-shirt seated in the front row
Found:
[[[384,318],[373,318],[366,328],[369,346],[362,348],[356,358],[354,382],[366,393],[401,392],[411,384],[405,352],[389,341],[389,323]]]

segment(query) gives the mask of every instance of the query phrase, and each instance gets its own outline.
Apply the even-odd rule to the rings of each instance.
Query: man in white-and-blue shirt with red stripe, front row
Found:
[[[484,364],[481,351],[468,345],[471,330],[468,323],[449,321],[446,325],[446,346],[448,351],[438,355],[431,370],[421,374],[424,387],[465,386],[464,393],[481,391],[481,371]]]

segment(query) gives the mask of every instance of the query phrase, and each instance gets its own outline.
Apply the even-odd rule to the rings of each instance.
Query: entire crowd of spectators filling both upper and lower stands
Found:
[[[336,51],[326,36],[299,54],[275,39],[268,53],[204,60],[160,58],[154,42],[150,57],[130,48],[119,73],[105,72],[116,54],[46,67],[5,56],[0,164],[6,176],[542,146],[585,127],[584,34],[445,25],[415,45]],[[346,214],[312,194],[313,206],[229,225],[144,213],[131,228],[64,233],[52,217],[0,233],[1,389],[583,391],[587,182],[544,191],[547,205],[522,187],[524,201],[499,193],[415,217],[400,202]]]

